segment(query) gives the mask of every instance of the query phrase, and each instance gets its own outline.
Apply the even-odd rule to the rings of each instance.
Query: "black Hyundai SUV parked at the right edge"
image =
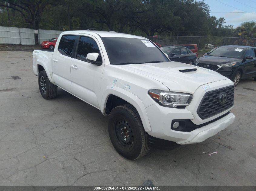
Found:
[[[196,65],[226,76],[235,86],[243,78],[254,78],[256,81],[256,47],[220,46],[197,59]]]

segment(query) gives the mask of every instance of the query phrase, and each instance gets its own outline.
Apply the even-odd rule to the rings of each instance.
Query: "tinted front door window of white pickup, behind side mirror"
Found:
[[[81,37],[78,43],[76,58],[87,62],[86,56],[89,53],[99,53],[96,62],[102,63],[101,53],[96,41],[90,37]]]

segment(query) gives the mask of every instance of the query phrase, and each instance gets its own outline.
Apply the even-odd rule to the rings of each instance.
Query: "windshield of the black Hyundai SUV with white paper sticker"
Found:
[[[213,50],[210,56],[223,56],[228,58],[242,58],[245,49],[236,47],[219,47]]]

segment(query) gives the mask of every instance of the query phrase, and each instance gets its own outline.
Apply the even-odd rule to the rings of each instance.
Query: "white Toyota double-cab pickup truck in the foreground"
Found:
[[[231,80],[171,62],[144,37],[66,31],[53,52],[34,50],[33,71],[43,98],[59,87],[109,116],[111,142],[131,160],[152,146],[202,142],[235,119]]]

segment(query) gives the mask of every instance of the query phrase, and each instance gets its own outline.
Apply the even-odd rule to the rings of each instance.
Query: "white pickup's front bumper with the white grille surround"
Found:
[[[151,131],[148,134],[155,138],[177,142],[178,144],[191,144],[202,142],[227,128],[235,119],[233,113],[228,113],[232,107],[207,119],[201,119],[196,110],[207,91],[227,87],[232,84],[233,82],[227,79],[199,87],[194,92],[194,98],[190,105],[184,109],[163,107],[158,103],[147,107],[146,112],[151,127]],[[205,87],[208,89],[205,89]],[[190,119],[195,125],[202,124],[202,126],[190,132],[177,131],[171,128],[172,121],[176,119]]]

